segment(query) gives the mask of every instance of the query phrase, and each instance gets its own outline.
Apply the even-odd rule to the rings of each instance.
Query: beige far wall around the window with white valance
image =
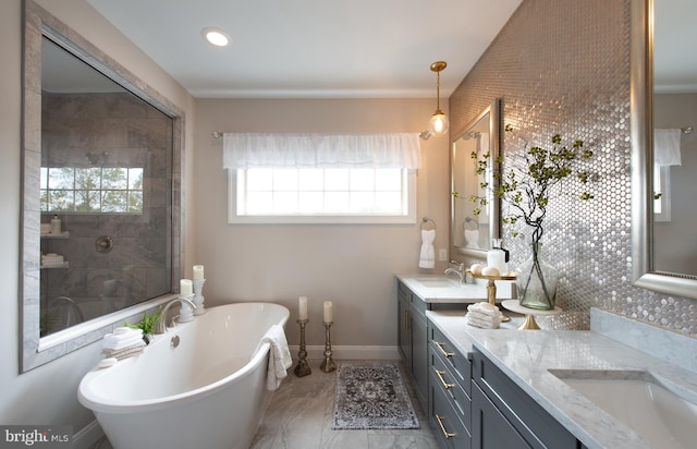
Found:
[[[223,132],[420,132],[432,99],[276,99],[196,101],[192,201],[196,263],[206,266],[207,303],[273,301],[291,310],[288,338],[297,344],[297,298],[309,298],[307,344],[323,344],[321,302],[333,301],[334,345],[396,345],[394,275],[417,271],[419,223],[228,225]],[[448,247],[449,145],[421,141],[417,220],[437,223],[436,248]],[[438,251],[437,251],[438,252]],[[437,265],[442,272],[444,263]]]

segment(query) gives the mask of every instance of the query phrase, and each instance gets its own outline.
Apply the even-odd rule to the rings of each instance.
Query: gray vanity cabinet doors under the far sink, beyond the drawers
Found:
[[[400,353],[412,376],[418,399],[425,405],[428,398],[427,305],[402,282],[398,282],[398,303]]]

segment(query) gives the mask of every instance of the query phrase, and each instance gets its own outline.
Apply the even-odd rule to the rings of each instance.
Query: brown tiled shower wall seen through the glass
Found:
[[[42,166],[144,168],[143,214],[58,213],[70,239],[44,239],[41,250],[70,267],[41,270],[42,311],[64,295],[90,319],[169,292],[172,119],[131,94],[41,97]],[[112,238],[111,252],[96,251],[101,235]]]

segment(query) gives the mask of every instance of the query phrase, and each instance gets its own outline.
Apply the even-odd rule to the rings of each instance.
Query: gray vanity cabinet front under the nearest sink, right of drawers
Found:
[[[472,447],[578,449],[580,442],[476,348]]]

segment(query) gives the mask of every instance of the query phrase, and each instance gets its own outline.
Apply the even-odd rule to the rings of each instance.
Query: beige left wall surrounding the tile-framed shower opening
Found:
[[[86,1],[41,0],[38,3],[168,97],[187,117],[192,116],[193,98],[98,15]],[[21,36],[22,2],[0,2],[0,209],[3,211],[0,232],[5,240],[0,255],[0,423],[68,424],[77,432],[94,420],[91,412],[77,402],[77,385],[101,357],[98,343],[26,374],[17,374],[21,313],[17,302],[21,235]],[[192,148],[193,121],[188,120],[185,125],[186,148]],[[191,181],[191,175],[187,180]]]

